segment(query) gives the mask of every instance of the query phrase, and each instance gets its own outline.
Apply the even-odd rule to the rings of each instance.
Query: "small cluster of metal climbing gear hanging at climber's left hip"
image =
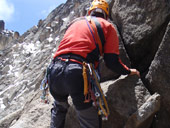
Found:
[[[42,95],[40,96],[41,100],[44,102],[44,103],[49,103],[49,99],[48,99],[48,96],[49,96],[49,87],[48,87],[48,71],[49,69],[47,68],[46,69],[46,74],[41,82],[41,85],[40,85],[40,90],[42,91]]]

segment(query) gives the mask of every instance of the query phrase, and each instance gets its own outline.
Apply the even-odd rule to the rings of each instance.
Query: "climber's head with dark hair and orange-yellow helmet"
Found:
[[[109,5],[105,0],[93,0],[88,14],[107,19],[109,16]]]

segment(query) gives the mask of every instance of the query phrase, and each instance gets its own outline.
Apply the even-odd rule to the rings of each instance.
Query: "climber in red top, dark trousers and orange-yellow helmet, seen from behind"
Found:
[[[99,57],[103,56],[106,66],[118,74],[139,76],[136,69],[128,68],[119,58],[118,36],[114,26],[107,21],[108,3],[105,0],[94,0],[88,15],[69,25],[49,66],[49,90],[55,100],[51,109],[51,128],[64,128],[69,107],[68,96],[72,98],[82,128],[101,127],[92,101],[84,102],[83,62],[91,63],[97,69]],[[102,31],[99,32],[91,25],[94,20]],[[101,42],[96,32],[103,35],[100,37]]]

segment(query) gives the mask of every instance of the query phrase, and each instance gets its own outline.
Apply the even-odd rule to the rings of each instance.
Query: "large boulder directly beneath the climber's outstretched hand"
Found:
[[[151,95],[137,76],[110,83],[106,94],[111,116],[103,124],[104,128],[150,128],[152,118],[149,117],[159,110],[160,96]]]

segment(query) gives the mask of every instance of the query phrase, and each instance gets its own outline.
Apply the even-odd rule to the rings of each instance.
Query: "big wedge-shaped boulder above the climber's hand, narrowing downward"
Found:
[[[145,72],[159,47],[168,21],[167,0],[115,0],[112,18],[119,28],[132,66]]]

